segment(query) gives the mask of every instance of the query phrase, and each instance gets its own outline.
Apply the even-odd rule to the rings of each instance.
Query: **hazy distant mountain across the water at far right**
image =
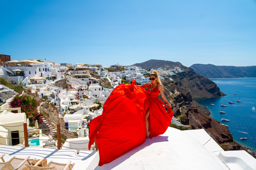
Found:
[[[256,78],[256,66],[218,66],[213,64],[193,64],[197,74],[206,78]]]

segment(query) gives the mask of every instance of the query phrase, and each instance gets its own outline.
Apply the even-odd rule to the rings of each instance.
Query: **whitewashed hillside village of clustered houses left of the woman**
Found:
[[[47,62],[46,60],[39,62],[31,59],[7,61],[3,66],[0,66],[0,77],[12,84],[20,84],[31,94],[37,95],[43,101],[52,103],[58,109],[58,116],[65,122],[65,128],[81,137],[87,137],[89,134],[87,123],[102,114],[102,106],[115,87],[124,82],[130,83],[132,80],[141,85],[151,82],[149,80],[151,72],[135,65],[115,64],[111,65],[110,68],[105,68],[101,64],[77,63],[72,65],[70,63]],[[179,67],[159,68],[158,72],[161,78],[164,78],[182,72],[182,69]],[[0,86],[2,87],[0,91],[1,109],[5,109],[7,112],[20,113],[19,109],[16,111],[10,106],[10,102],[18,92],[3,84]],[[2,114],[2,117],[5,116],[5,120],[7,120],[10,115]],[[23,117],[23,119],[25,118],[26,116]],[[39,122],[47,121],[43,115],[37,120]],[[35,123],[31,118],[28,120],[28,124],[29,122],[30,124]],[[175,117],[173,117],[174,122],[179,126],[184,126]],[[4,121],[4,123],[7,122]],[[46,124],[50,125],[51,123],[46,122]],[[50,139],[54,138],[55,132],[56,130],[52,128],[51,133],[49,133]],[[85,139],[88,140],[88,138]],[[23,141],[20,140],[20,143]],[[5,141],[4,144],[12,145],[13,143],[12,141]]]

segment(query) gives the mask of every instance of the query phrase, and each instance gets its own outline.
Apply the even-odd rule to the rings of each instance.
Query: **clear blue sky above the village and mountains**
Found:
[[[256,1],[0,0],[11,60],[256,65]]]

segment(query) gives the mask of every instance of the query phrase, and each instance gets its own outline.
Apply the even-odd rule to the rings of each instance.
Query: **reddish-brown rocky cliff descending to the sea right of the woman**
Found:
[[[207,108],[193,101],[187,88],[177,86],[175,85],[177,83],[171,82],[169,79],[164,79],[162,83],[164,94],[172,105],[173,115],[180,117],[182,124],[189,125],[189,129],[204,129],[224,150],[247,151],[246,148],[233,141],[227,126],[214,120],[209,116],[211,113]],[[255,157],[254,152],[252,155]]]

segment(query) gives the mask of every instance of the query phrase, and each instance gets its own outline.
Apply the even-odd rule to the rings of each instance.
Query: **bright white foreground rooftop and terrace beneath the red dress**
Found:
[[[75,163],[73,169],[256,169],[256,159],[245,151],[223,151],[204,130],[168,128],[163,135],[146,139],[142,145],[109,164],[98,166],[98,151],[22,148],[0,145],[5,160],[13,156]],[[111,154],[111,153],[109,153]]]

